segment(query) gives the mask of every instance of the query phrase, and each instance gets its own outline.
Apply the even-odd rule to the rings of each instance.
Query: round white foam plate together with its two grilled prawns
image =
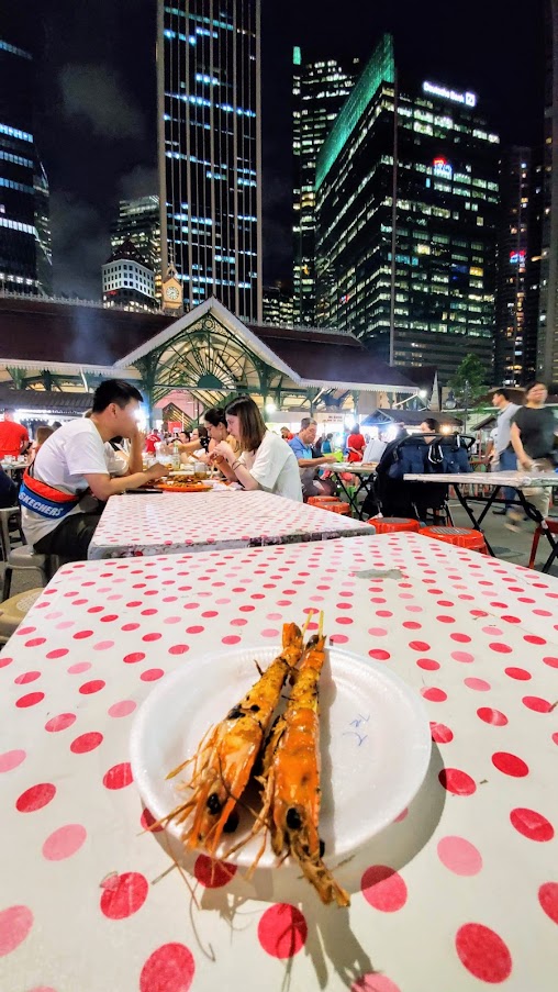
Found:
[[[339,905],[348,895],[326,863],[397,820],[429,757],[426,712],[401,678],[293,623],[280,645],[191,658],[131,736],[152,828],[248,870],[290,858]]]

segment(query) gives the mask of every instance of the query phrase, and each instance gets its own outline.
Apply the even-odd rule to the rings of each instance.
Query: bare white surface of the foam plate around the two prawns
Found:
[[[191,757],[210,726],[223,720],[257,681],[255,661],[267,667],[279,645],[241,648],[187,660],[167,676],[140,709],[131,735],[131,759],[140,794],[156,820],[183,801],[177,790],[190,768],[167,780],[167,772]],[[286,690],[287,693],[287,690]],[[421,698],[384,666],[330,648],[320,683],[322,810],[320,836],[325,858],[346,856],[392,823],[411,802],[426,774],[431,731]],[[257,793],[250,803],[257,802]],[[227,849],[249,832],[243,811]],[[179,838],[183,826],[170,822]],[[252,838],[228,860],[249,866],[261,838]],[[259,862],[277,862],[269,844]]]

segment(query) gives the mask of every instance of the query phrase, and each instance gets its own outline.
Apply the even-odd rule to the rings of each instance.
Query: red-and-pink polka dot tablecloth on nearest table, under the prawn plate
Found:
[[[554,992],[557,601],[414,534],[63,568],[0,653],[2,992]],[[129,763],[160,679],[311,609],[421,693],[434,742],[409,809],[337,868],[348,911],[287,866],[181,877]]]

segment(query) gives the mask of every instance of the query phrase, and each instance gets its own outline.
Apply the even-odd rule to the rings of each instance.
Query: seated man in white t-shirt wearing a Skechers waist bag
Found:
[[[87,558],[109,497],[166,475],[163,465],[142,471],[141,402],[135,386],[108,379],[94,392],[91,415],[68,421],[41,446],[20,489],[23,533],[35,551]],[[127,467],[108,444],[119,435],[131,442]]]

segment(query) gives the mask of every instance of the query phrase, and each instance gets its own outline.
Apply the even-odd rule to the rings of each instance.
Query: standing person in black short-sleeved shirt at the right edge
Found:
[[[548,390],[544,382],[532,382],[525,389],[525,405],[517,410],[512,419],[510,438],[517,456],[518,467],[524,471],[553,471],[556,459],[554,455],[556,421],[553,410],[545,406]],[[524,493],[533,505],[548,516],[550,504],[549,489],[525,489]],[[518,530],[523,513],[511,509],[506,526]]]

